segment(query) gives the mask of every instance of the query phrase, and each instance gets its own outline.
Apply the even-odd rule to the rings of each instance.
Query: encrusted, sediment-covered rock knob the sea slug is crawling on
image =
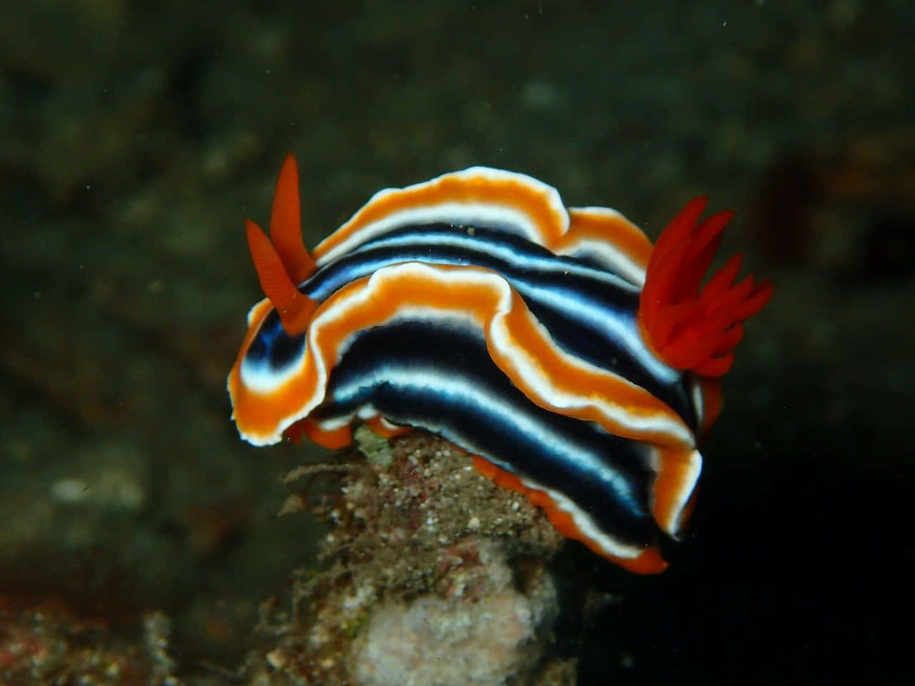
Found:
[[[358,436],[371,460],[327,467],[345,477],[320,565],[296,574],[291,611],[265,608],[253,679],[499,686],[552,669],[562,539],[543,512],[435,436]]]

